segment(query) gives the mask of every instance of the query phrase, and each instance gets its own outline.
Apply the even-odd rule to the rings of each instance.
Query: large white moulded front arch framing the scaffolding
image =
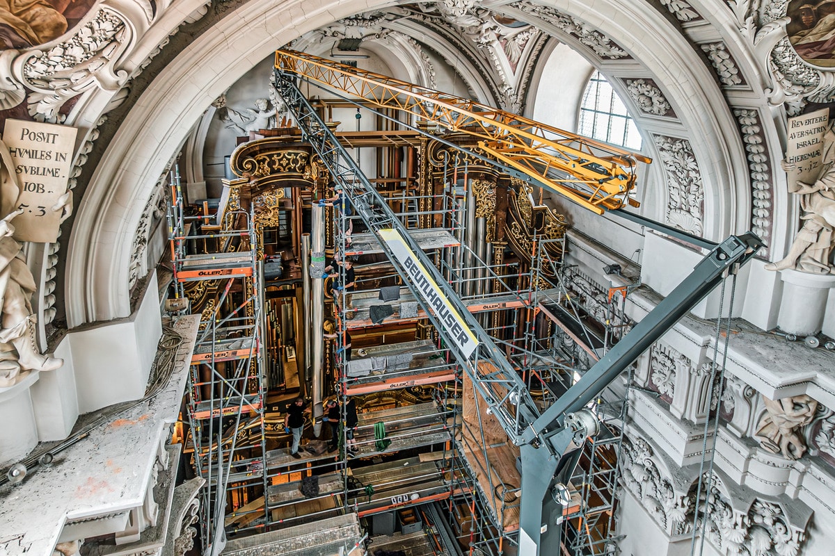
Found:
[[[559,7],[565,2],[556,4]],[[695,146],[698,159],[705,161],[700,166],[719,170],[703,177],[707,178],[708,187],[706,218],[717,215],[715,222],[706,223],[709,224],[706,236],[721,236],[736,228],[729,215],[740,213],[734,210],[735,195],[728,178],[734,176],[733,168],[739,168],[739,163],[745,168],[741,147],[738,144],[729,147],[722,139],[723,127],[736,131],[730,111],[712,76],[685,39],[670,29],[669,23],[654,9],[642,3],[628,4],[623,0],[609,0],[595,3],[595,10],[576,7],[572,15],[595,25],[645,63],[681,107],[687,126],[694,130],[692,136],[707,138],[705,143]],[[364,4],[362,10],[386,5]],[[567,8],[562,7],[565,13],[570,13]],[[641,33],[635,37],[617,24],[618,13],[633,13],[631,21],[638,10],[643,12],[642,19],[650,23],[641,28],[670,31]],[[68,251],[67,313],[71,327],[129,314],[129,258],[141,213],[133,208],[144,206],[143,201],[149,197],[171,153],[180,147],[210,103],[281,44],[355,13],[357,9],[351,4],[328,0],[312,3],[311,0],[280,3],[253,0],[215,23],[159,73],[121,124],[79,208]],[[538,20],[537,24],[570,42],[570,37],[544,20]],[[229,37],[236,39],[230,42]],[[437,46],[440,48],[443,42],[438,41]],[[657,56],[671,47],[680,58]],[[689,88],[683,87],[685,83]],[[694,90],[699,94],[692,94]],[[696,114],[702,110],[707,116],[697,118]],[[736,178],[733,183],[746,183],[746,176]],[[736,198],[741,198],[739,192]]]

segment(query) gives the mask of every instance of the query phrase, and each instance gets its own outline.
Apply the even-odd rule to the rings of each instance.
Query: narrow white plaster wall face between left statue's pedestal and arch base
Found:
[[[50,373],[39,373],[38,382],[32,386],[38,440],[41,442],[67,438],[78,419],[75,368],[67,336],[58,343],[55,357],[63,359],[63,367]]]

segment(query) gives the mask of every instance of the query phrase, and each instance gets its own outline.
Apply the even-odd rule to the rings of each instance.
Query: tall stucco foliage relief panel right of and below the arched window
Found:
[[[696,235],[701,234],[704,184],[696,155],[686,139],[654,135],[667,186],[666,223]]]

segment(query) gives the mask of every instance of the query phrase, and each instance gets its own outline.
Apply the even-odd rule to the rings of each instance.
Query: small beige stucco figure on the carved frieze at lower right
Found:
[[[762,397],[767,414],[760,420],[757,437],[763,448],[782,453],[784,458],[799,459],[806,452],[801,428],[815,418],[817,402],[801,394],[777,400]]]

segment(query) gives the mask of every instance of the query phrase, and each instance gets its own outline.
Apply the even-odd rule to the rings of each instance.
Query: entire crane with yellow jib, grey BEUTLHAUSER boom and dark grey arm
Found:
[[[375,102],[382,108],[400,108],[421,118],[444,123],[456,131],[470,133],[471,128],[480,129],[473,134],[483,138],[479,145],[488,153],[500,159],[519,155],[512,164],[514,168],[524,167],[520,161],[525,157],[530,161],[538,160],[537,163],[530,162],[529,168],[543,169],[540,176],[532,176],[539,183],[547,184],[544,177],[550,176],[549,168],[557,168],[558,164],[554,162],[553,167],[548,166],[544,158],[537,157],[553,149],[559,157],[551,158],[561,158],[559,170],[575,181],[553,183],[551,188],[597,213],[628,202],[628,193],[635,183],[635,162],[649,162],[649,159],[630,158],[625,151],[616,154],[610,150],[606,158],[594,158],[594,162],[588,163],[592,155],[583,149],[590,151],[592,147],[604,146],[576,135],[566,138],[566,144],[555,143],[536,134],[546,129],[542,124],[530,122],[527,128],[524,125],[514,128],[513,119],[508,118],[519,121],[522,118],[496,108],[360,72],[307,54],[276,52],[276,84],[304,138],[320,155],[331,178],[342,185],[357,215],[377,237],[383,253],[426,311],[443,343],[451,348],[458,364],[468,373],[473,388],[488,404],[490,413],[498,419],[510,441],[519,445],[522,475],[519,553],[522,556],[555,556],[562,546],[559,523],[562,523],[567,507],[563,496],[565,485],[577,466],[585,438],[596,435],[599,428],[597,418],[585,406],[716,288],[726,273],[752,258],[762,247],[762,241],[749,232],[731,236],[716,246],[630,333],[540,413],[505,353],[468,312],[386,200],[327,128],[298,88],[298,78],[327,86],[337,84],[342,91],[366,99],[375,92],[378,98]],[[431,108],[433,106],[436,108]],[[474,112],[473,108],[478,108],[479,112]],[[459,125],[463,127],[456,128]],[[494,128],[504,132],[493,133]],[[511,133],[511,128],[516,131]],[[536,133],[532,131],[534,128]],[[511,138],[519,138],[519,144],[514,145]],[[544,147],[546,143],[547,148]],[[538,151],[540,146],[542,150]],[[574,158],[568,158],[565,153],[571,153]],[[596,175],[597,181],[593,184],[589,179],[591,174]],[[426,287],[427,283],[432,287]],[[458,328],[454,326],[456,323]],[[461,328],[464,328],[463,332]]]

